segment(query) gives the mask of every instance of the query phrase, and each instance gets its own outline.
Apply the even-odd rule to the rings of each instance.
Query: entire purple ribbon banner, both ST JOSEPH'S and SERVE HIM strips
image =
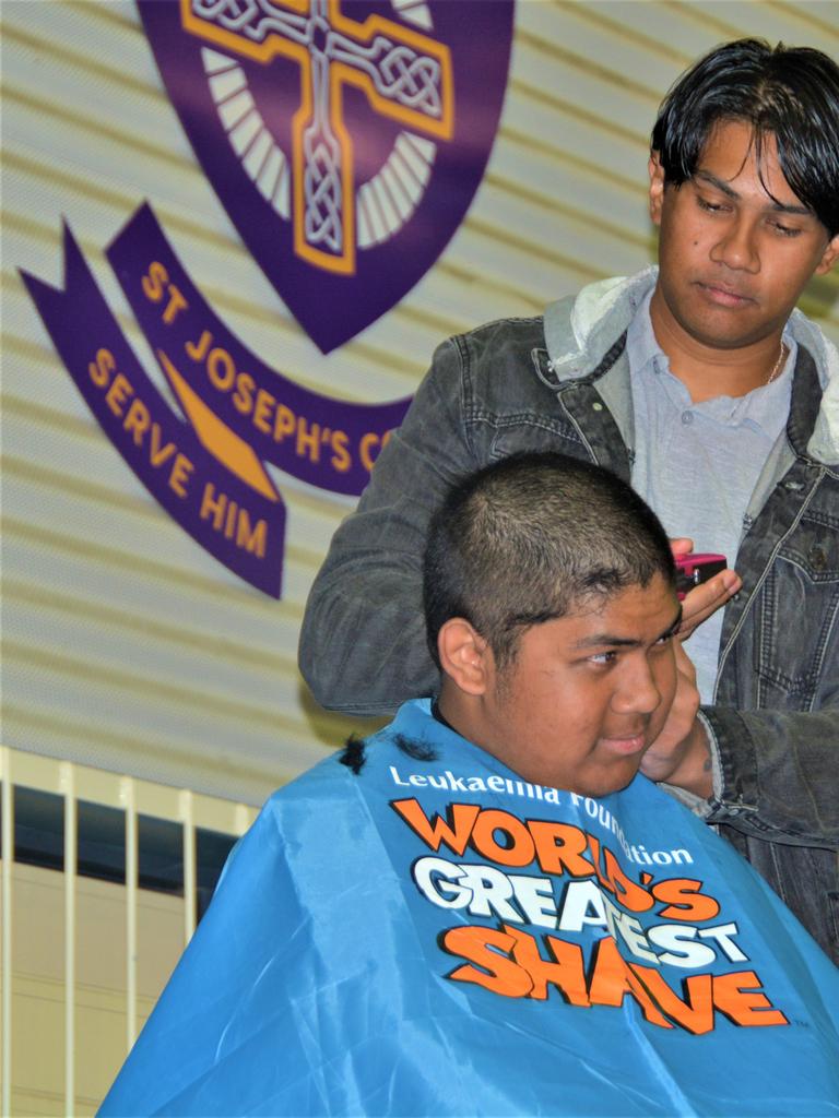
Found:
[[[285,505],[265,463],[357,495],[409,399],[337,400],[264,364],[210,310],[144,203],[106,255],[185,421],[144,372],[66,225],[64,249],[64,290],[22,276],[91,410],[167,512],[279,598]]]

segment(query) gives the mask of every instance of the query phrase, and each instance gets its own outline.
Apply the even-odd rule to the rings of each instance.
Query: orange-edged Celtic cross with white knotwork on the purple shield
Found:
[[[186,31],[266,65],[300,67],[301,106],[292,127],[294,250],[311,264],[356,269],[352,136],[342,89],[361,89],[383,116],[436,139],[452,134],[452,66],[447,47],[393,20],[358,22],[337,0],[181,0]]]

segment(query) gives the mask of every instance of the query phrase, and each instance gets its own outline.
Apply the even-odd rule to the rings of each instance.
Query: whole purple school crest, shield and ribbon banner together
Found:
[[[501,112],[512,0],[138,6],[237,234],[320,349],[343,344],[399,302],[463,220]],[[47,332],[152,496],[208,553],[279,597],[275,470],[361,493],[409,399],[351,400],[346,386],[332,396],[298,383],[283,353],[265,363],[205,300],[148,202],[106,256],[158,376],[68,225],[63,284],[23,273]]]

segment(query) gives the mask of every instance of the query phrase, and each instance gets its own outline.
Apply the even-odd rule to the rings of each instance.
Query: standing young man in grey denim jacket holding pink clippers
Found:
[[[713,615],[687,645],[703,707],[682,654],[644,770],[839,960],[839,354],[794,310],[839,256],[839,67],[753,39],[703,58],[659,113],[650,211],[658,271],[437,350],[336,533],[301,669],[349,713],[431,692],[420,557],[446,486],[525,449],[609,467],[739,576],[685,601],[686,631]]]

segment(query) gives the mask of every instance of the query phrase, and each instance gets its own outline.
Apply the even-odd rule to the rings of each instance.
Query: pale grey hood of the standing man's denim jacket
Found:
[[[562,299],[545,311],[545,340],[557,380],[587,376],[656,284],[658,267],[633,276],[588,284],[576,297]],[[826,465],[839,464],[839,350],[801,311],[790,315],[795,341],[812,354],[823,389],[821,407],[808,443],[808,453]]]

